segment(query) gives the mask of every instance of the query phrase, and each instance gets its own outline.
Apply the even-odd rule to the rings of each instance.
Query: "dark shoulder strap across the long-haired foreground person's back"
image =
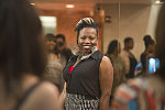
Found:
[[[25,94],[24,96],[19,100],[18,105],[13,110],[20,110],[21,106],[24,103],[24,101],[29,98],[29,96],[34,91],[34,89],[42,82],[42,80],[38,80],[36,84],[34,84]]]

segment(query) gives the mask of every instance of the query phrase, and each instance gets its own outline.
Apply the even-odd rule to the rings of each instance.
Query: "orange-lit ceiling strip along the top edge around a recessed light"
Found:
[[[155,0],[31,0],[42,10],[86,10],[90,11],[96,4],[100,3],[133,3],[152,4]],[[74,4],[75,8],[67,9],[66,4]]]

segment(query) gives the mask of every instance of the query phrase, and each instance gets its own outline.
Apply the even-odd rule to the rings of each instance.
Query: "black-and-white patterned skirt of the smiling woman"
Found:
[[[99,99],[89,99],[84,95],[67,94],[65,110],[99,110]]]

